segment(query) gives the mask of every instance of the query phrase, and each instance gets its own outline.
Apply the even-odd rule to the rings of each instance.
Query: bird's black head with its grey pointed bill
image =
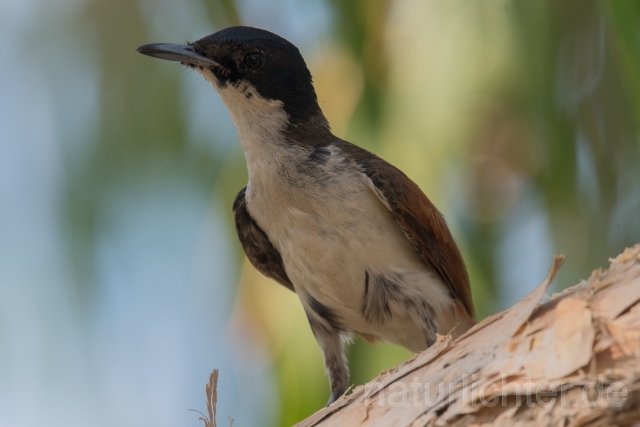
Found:
[[[269,31],[230,27],[187,45],[152,44],[138,52],[194,68],[221,94],[235,89],[248,100],[257,92],[266,100],[281,101],[289,124],[323,117],[300,51]]]

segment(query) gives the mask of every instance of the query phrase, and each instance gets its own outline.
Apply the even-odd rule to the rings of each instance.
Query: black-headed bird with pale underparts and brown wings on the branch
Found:
[[[233,202],[238,238],[258,271],[297,294],[322,351],[327,406],[347,390],[354,335],[418,353],[475,324],[443,215],[398,168],[332,133],[296,46],[235,26],[136,51],[195,70],[227,107],[248,171]]]

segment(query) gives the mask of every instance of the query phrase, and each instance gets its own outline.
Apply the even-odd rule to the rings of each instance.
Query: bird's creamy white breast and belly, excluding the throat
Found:
[[[406,308],[392,307],[386,324],[366,322],[366,272],[402,277],[399,285],[426,297],[436,311],[446,310],[450,298],[371,190],[368,178],[337,147],[329,150],[331,156],[315,165],[315,171],[309,170],[310,152],[302,147],[281,147],[273,156],[254,157],[249,164],[254,171],[247,191],[249,212],[282,255],[308,312],[304,295],[331,308],[351,330],[412,348],[423,335]]]

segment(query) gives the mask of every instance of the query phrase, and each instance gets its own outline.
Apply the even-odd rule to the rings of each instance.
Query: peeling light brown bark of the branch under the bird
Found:
[[[297,426],[640,426],[640,245],[548,298],[561,264],[515,306]]]

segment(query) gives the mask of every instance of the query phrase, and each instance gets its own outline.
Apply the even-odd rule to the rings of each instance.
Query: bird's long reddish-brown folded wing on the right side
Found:
[[[422,261],[447,286],[471,320],[475,319],[467,269],[442,214],[418,185],[393,165],[349,142],[336,138],[334,143],[371,180],[374,192],[391,211]]]

